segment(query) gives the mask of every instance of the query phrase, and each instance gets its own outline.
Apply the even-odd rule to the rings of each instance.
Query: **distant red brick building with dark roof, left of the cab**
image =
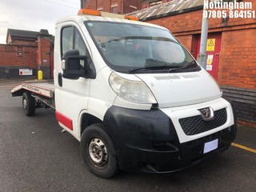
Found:
[[[44,78],[50,78],[54,64],[52,38],[47,30],[8,29],[6,44],[0,45],[0,78],[36,78],[39,69]]]

